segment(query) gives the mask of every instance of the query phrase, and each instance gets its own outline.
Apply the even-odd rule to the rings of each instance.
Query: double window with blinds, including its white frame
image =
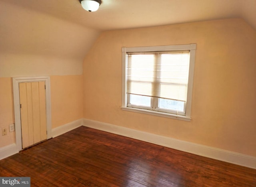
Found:
[[[122,109],[189,121],[195,50],[122,47]]]

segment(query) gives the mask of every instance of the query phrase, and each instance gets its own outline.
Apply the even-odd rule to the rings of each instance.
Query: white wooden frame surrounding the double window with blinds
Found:
[[[186,113],[185,115],[166,113],[164,109],[156,108],[157,110],[148,110],[147,107],[132,108],[128,104],[128,94],[127,94],[127,79],[126,79],[126,64],[127,64],[127,53],[128,52],[149,52],[149,51],[190,51],[190,64],[189,64],[189,74],[188,74],[188,93],[186,100]],[[191,120],[191,104],[192,104],[192,90],[193,90],[193,77],[194,77],[194,65],[195,65],[195,54],[196,54],[196,44],[186,44],[186,45],[164,45],[164,46],[149,46],[149,47],[122,47],[122,110],[130,112],[139,112],[142,114],[151,114],[155,116],[162,116],[167,118],[174,118],[178,120]],[[152,103],[152,102],[151,102]],[[157,103],[153,103],[157,104]],[[150,107],[149,107],[150,108]]]

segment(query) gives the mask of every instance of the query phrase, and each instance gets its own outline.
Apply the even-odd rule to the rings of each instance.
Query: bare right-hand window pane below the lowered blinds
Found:
[[[163,98],[159,98],[158,100],[159,108],[178,110],[178,111],[184,111],[184,103],[185,102],[183,101],[163,99]]]

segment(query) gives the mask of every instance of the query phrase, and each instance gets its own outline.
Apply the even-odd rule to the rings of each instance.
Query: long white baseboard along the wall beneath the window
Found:
[[[192,154],[205,156],[205,157],[209,157],[209,158],[213,158],[221,161],[226,161],[228,163],[234,163],[237,165],[256,169],[256,157],[239,154],[236,152],[230,152],[227,150],[222,150],[222,149],[213,148],[209,146],[204,146],[200,144],[194,144],[191,142],[177,140],[174,138],[168,138],[165,136],[159,136],[156,134],[151,134],[151,133],[147,133],[139,130],[134,130],[134,129],[107,124],[103,122],[98,122],[94,120],[83,119],[82,124],[83,126],[95,128],[98,130],[103,130],[106,132],[111,132],[114,134],[119,134],[129,138],[134,138],[137,140],[142,140],[144,142],[150,142],[160,146],[165,146],[168,148],[173,148],[176,150],[189,152]]]

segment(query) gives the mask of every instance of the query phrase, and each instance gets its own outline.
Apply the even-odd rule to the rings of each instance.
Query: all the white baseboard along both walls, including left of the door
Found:
[[[64,134],[70,130],[78,128],[80,126],[87,126],[90,128],[95,128],[98,130],[103,130],[106,132],[119,134],[129,138],[134,138],[137,140],[142,140],[144,142],[150,142],[160,146],[165,146],[168,148],[173,148],[176,150],[189,152],[192,154],[205,156],[213,159],[218,159],[221,161],[226,161],[229,163],[234,163],[237,165],[242,165],[245,167],[250,167],[256,169],[256,157],[239,154],[236,152],[230,152],[227,150],[222,150],[218,148],[213,148],[209,146],[204,146],[200,144],[194,144],[191,142],[186,142],[182,140],[177,140],[174,138],[168,138],[165,136],[160,136],[156,134],[151,134],[139,130],[134,130],[122,126],[116,126],[112,124],[107,124],[103,122],[98,122],[94,120],[80,119],[68,124],[64,124],[57,128],[52,129],[52,138]],[[0,148],[0,159],[12,156],[18,153],[18,148],[16,144],[10,144],[3,148]]]

